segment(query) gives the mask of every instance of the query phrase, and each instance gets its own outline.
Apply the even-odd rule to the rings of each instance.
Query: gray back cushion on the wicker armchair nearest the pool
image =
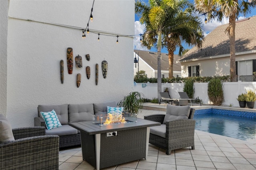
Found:
[[[176,119],[188,119],[189,113],[190,106],[167,105],[166,115],[164,117],[163,124],[165,124],[166,121],[173,121]]]

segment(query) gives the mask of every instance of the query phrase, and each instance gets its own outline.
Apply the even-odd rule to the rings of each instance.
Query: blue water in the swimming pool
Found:
[[[208,113],[195,114],[194,120],[196,120],[196,130],[241,140],[256,137],[256,119]]]

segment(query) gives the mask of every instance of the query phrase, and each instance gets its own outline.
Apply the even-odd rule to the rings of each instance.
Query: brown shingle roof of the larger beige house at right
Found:
[[[227,27],[228,24],[224,24],[215,28],[205,37],[202,48],[193,47],[178,61],[230,54]],[[236,53],[256,50],[256,16],[236,22],[235,38]]]

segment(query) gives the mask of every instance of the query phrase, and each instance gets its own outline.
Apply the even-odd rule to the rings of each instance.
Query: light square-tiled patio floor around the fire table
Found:
[[[165,114],[146,110],[138,115]],[[81,147],[60,149],[60,170],[94,170],[82,160]],[[239,140],[195,130],[195,150],[182,148],[172,151],[149,144],[148,159],[120,164],[103,170],[256,170],[256,138]]]

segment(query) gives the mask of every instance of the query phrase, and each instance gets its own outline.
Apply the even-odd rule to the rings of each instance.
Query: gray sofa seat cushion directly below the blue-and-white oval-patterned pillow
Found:
[[[58,136],[66,136],[71,134],[77,134],[78,130],[69,125],[62,125],[62,127],[53,128],[51,130],[45,130],[46,135],[56,134]]]

